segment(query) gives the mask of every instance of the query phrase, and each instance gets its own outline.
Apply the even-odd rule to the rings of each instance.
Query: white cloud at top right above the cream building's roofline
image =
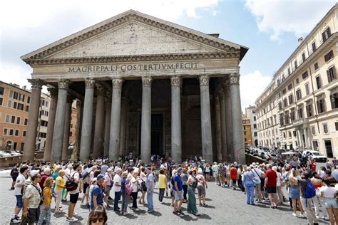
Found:
[[[280,41],[285,32],[307,35],[336,3],[335,0],[246,0],[245,7],[255,16],[260,31]]]

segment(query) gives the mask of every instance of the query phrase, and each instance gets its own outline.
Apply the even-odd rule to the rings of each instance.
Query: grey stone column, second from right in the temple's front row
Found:
[[[202,75],[200,80],[200,121],[202,130],[202,154],[205,162],[212,162],[212,137],[210,116],[209,76]]]

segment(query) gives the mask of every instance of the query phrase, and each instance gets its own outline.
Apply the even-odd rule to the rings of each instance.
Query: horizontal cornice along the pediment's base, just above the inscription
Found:
[[[86,63],[130,63],[145,61],[188,61],[188,60],[212,60],[239,58],[240,52],[233,53],[190,53],[190,54],[165,54],[143,56],[103,56],[86,58],[53,58],[27,60],[31,66],[86,64]]]

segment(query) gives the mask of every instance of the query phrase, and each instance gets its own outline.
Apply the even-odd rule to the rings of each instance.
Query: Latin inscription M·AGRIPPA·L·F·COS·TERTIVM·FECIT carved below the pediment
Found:
[[[131,70],[174,70],[174,69],[194,69],[198,68],[198,63],[149,63],[149,64],[121,64],[106,66],[78,66],[70,67],[69,73],[85,72],[109,72],[109,71],[131,71]]]

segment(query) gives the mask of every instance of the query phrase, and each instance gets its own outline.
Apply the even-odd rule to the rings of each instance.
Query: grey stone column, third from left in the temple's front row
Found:
[[[81,143],[80,143],[80,160],[87,162],[91,152],[91,130],[93,125],[93,100],[95,80],[86,79],[86,92],[83,105]]]

